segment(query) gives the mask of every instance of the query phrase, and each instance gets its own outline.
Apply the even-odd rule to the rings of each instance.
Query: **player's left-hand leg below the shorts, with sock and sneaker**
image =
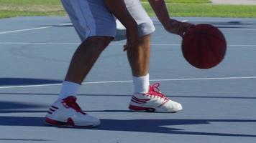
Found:
[[[75,127],[94,127],[100,124],[99,119],[83,112],[76,103],[76,94],[101,51],[108,46],[112,39],[113,37],[108,36],[91,36],[78,46],[70,62],[59,99],[52,104],[47,112],[46,122],[48,124]]]

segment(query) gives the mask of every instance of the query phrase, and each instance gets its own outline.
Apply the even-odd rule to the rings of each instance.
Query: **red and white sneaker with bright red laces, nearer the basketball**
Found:
[[[134,112],[178,112],[182,105],[165,97],[158,88],[159,83],[152,84],[146,94],[133,94],[129,109]]]

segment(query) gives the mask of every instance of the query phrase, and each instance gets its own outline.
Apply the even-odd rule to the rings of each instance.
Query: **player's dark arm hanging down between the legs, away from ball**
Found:
[[[136,21],[132,18],[125,6],[123,0],[104,0],[106,7],[111,13],[116,16],[116,19],[125,26],[127,29],[127,45],[124,49],[129,49],[137,46],[139,40],[138,26]]]

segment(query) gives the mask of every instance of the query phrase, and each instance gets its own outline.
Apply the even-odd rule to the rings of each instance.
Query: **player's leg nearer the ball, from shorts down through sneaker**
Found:
[[[181,104],[173,102],[160,92],[160,84],[149,82],[150,34],[155,30],[152,20],[147,15],[139,0],[124,0],[139,26],[140,43],[137,47],[127,49],[132,68],[134,94],[129,109],[138,112],[178,112]]]

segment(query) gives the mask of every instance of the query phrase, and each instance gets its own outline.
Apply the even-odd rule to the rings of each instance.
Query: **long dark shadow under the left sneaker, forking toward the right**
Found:
[[[252,122],[250,119],[101,119],[101,126],[93,130],[125,131],[125,132],[150,132],[162,134],[192,134],[204,136],[224,137],[256,137],[256,134],[231,134],[214,132],[185,132],[182,129],[163,127],[191,124],[211,124],[211,122]],[[45,124],[44,117],[0,117],[2,126],[29,126],[29,127],[50,127]],[[76,128],[82,129],[82,128]]]

